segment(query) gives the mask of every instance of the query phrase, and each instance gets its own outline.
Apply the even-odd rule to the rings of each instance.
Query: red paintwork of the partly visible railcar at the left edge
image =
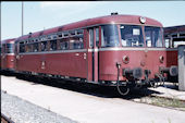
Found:
[[[2,40],[1,46],[2,45],[7,45],[7,44],[14,44],[15,38],[12,39],[7,39],[7,40]],[[2,47],[2,51],[3,51],[3,47]],[[14,70],[14,65],[15,65],[15,56],[14,54],[9,54],[5,52],[2,52],[1,54],[1,69],[2,70]]]

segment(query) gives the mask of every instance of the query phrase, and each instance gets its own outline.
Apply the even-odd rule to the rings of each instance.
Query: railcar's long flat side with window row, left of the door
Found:
[[[71,29],[16,41],[16,71],[59,78],[87,77],[85,29]]]

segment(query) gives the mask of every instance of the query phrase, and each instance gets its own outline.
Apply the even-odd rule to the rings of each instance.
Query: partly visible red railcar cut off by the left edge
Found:
[[[15,38],[1,41],[1,71],[14,72],[14,42]]]

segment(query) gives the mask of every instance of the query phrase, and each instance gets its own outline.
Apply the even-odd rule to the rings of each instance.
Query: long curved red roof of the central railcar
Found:
[[[87,19],[84,21],[66,24],[63,26],[58,26],[49,29],[45,29],[41,32],[32,33],[29,35],[21,36],[17,39],[26,39],[28,37],[38,37],[41,35],[48,35],[57,32],[62,30],[69,30],[73,28],[81,28],[81,27],[87,27],[92,25],[99,25],[99,24],[136,24],[141,25],[139,21],[139,15],[107,15],[107,16],[100,16],[100,17],[94,17],[94,19]],[[160,26],[162,27],[162,24],[153,19],[146,17],[146,23],[144,25],[151,25],[151,26]]]

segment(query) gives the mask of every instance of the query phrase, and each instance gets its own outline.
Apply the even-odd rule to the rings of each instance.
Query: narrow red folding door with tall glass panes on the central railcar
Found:
[[[87,81],[98,83],[98,46],[99,46],[99,27],[88,28],[87,39]]]

